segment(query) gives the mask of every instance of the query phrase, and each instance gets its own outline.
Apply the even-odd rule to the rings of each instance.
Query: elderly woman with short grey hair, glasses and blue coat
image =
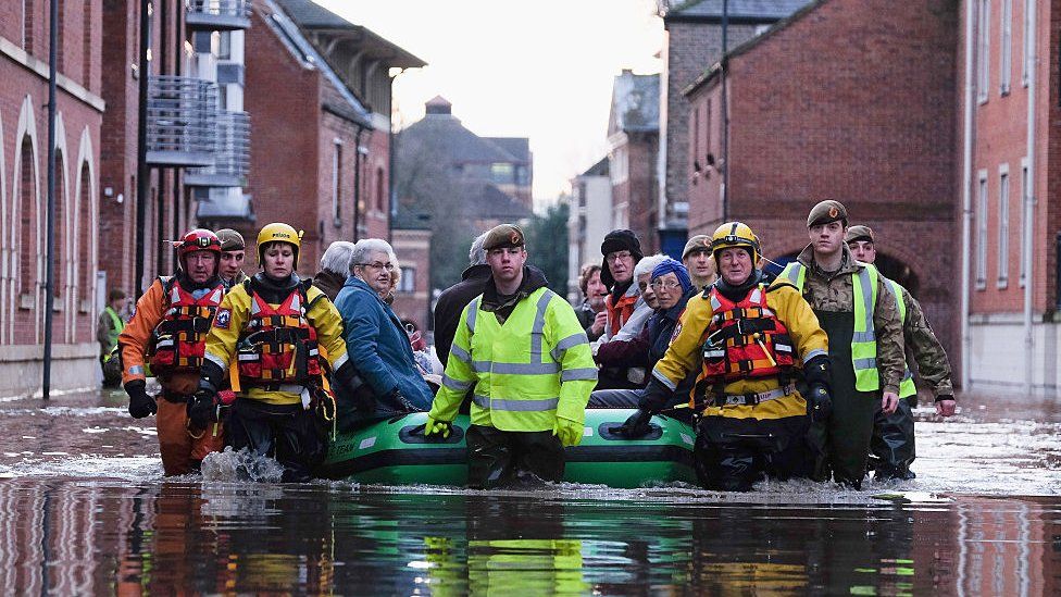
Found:
[[[350,360],[375,400],[357,400],[358,420],[427,410],[432,391],[416,370],[401,321],[380,298],[390,290],[394,250],[385,240],[365,238],[353,248],[350,277],[335,301],[346,328]]]

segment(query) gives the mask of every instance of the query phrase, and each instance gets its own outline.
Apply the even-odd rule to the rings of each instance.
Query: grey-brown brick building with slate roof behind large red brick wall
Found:
[[[726,46],[740,43],[770,28],[808,0],[729,0]],[[660,0],[663,17],[663,72],[660,74],[659,203],[663,250],[681,254],[688,228],[689,105],[682,92],[722,57],[722,0]],[[699,157],[702,162],[702,157]]]

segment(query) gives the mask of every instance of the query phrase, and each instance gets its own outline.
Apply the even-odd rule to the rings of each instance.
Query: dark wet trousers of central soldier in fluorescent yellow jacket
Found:
[[[542,481],[561,481],[564,450],[551,431],[504,432],[469,425],[467,486],[490,489],[533,474]]]

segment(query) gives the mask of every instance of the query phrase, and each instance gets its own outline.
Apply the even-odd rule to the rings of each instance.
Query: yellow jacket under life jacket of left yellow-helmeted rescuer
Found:
[[[288,296],[286,295],[285,298]],[[299,310],[303,312],[302,316],[308,325],[316,332],[317,345],[327,351],[332,369],[338,369],[347,361],[347,345],[342,340],[342,318],[339,316],[339,312],[328,297],[316,287],[305,288],[305,304],[299,306]],[[214,315],[214,324],[207,336],[204,358],[220,366],[222,371],[230,371],[229,364],[236,359],[239,339],[248,334],[247,326],[251,322],[252,304],[248,285],[239,284],[225,295],[217,314]],[[280,307],[279,303],[266,304],[273,310]],[[272,405],[295,405],[301,401],[302,388],[301,384],[284,384],[279,389],[249,386],[241,387],[239,396]]]

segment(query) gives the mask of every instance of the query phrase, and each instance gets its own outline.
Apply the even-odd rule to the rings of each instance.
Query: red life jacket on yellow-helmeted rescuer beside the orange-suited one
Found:
[[[253,281],[242,283],[250,295],[250,314],[237,344],[240,384],[307,385],[320,378],[316,329],[305,319],[310,309],[305,287],[297,285],[274,308],[254,289]]]

